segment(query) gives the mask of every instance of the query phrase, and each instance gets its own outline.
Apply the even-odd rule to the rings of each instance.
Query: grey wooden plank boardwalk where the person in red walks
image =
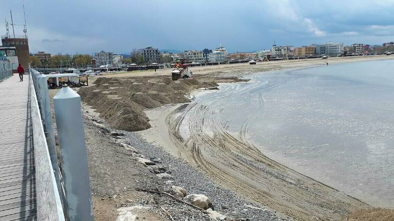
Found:
[[[0,221],[36,220],[29,75],[0,82]]]

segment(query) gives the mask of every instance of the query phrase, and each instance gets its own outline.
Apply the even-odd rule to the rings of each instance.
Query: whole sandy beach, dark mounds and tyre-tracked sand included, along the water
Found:
[[[105,74],[96,78],[96,85],[91,89],[84,89],[81,96],[117,129],[133,130],[131,127],[124,128],[127,121],[120,120],[120,116],[125,114],[130,115],[126,120],[148,119],[146,126],[133,131],[141,130],[138,133],[149,143],[163,147],[173,157],[187,161],[213,181],[253,203],[296,220],[341,220],[354,211],[373,208],[357,198],[269,159],[248,142],[246,131],[241,132],[240,137],[226,131],[226,125],[218,118],[220,113],[180,98],[186,96],[189,99],[194,93],[210,93],[202,87],[236,82],[237,77],[247,78],[248,74],[256,72],[307,68],[326,65],[326,62],[332,65],[382,59],[394,57],[329,58],[195,67],[190,68],[195,77],[191,79],[193,81],[183,80],[177,81],[178,83],[166,80],[170,77],[169,69],[157,70],[156,73],[143,71]],[[196,80],[199,83],[194,82]],[[180,85],[189,86],[181,89]],[[138,90],[136,86],[139,86]],[[135,99],[134,95],[144,95],[146,100]],[[171,99],[167,99],[168,97]],[[121,102],[122,100],[124,101]],[[125,107],[125,103],[129,102],[131,103]],[[110,103],[113,108],[108,107]],[[117,112],[123,114],[116,114]],[[208,115],[212,120],[204,122]],[[186,121],[189,127],[186,130],[180,129],[180,125]],[[205,127],[210,130],[205,130]]]

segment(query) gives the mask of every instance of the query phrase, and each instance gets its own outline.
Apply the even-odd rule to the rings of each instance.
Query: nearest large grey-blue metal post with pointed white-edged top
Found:
[[[66,214],[70,221],[93,220],[81,97],[63,87],[53,98],[60,144]]]

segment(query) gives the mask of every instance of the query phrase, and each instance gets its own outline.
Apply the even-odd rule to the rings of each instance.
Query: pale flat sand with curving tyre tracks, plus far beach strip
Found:
[[[342,63],[363,59],[392,58],[334,58],[328,62]],[[215,76],[245,76],[261,71],[323,65],[322,60],[272,63],[275,65],[264,67],[261,64],[261,67],[254,70],[246,68],[245,64],[239,64],[244,65],[244,69],[226,71],[219,71],[216,67],[219,73]],[[207,72],[207,76],[209,75],[213,73]],[[154,119],[150,122],[152,128],[140,131],[145,139],[163,146],[173,156],[187,160],[210,175],[213,180],[266,208],[297,220],[340,220],[352,211],[372,209],[356,198],[267,158],[248,142],[246,131],[241,131],[239,137],[233,136],[226,130],[227,125],[220,122],[220,113],[209,110],[206,106],[191,102],[190,105],[148,109],[145,113],[150,119]],[[209,118],[206,118],[207,116]],[[207,119],[210,119],[209,122]],[[186,123],[188,127],[181,129],[182,123]]]

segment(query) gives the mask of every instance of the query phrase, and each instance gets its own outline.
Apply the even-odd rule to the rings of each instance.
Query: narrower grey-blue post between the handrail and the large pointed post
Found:
[[[32,72],[34,73],[34,71]],[[53,131],[53,121],[52,121],[52,113],[51,113],[51,104],[49,101],[49,91],[48,91],[48,83],[47,77],[43,74],[38,75],[36,77],[36,85],[37,85],[37,101],[38,105],[40,105],[41,117],[43,120],[45,137],[47,139],[48,144],[48,152],[52,163],[53,173],[56,179],[56,186],[59,192],[59,195],[62,196],[62,188],[60,182],[60,172],[59,166],[57,164],[57,154],[56,154],[56,144],[55,144],[55,133]]]

